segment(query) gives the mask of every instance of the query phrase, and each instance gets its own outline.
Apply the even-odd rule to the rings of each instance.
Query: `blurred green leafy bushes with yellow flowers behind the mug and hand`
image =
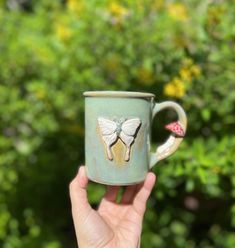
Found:
[[[86,90],[152,92],[187,112],[185,141],[153,169],[142,247],[234,248],[234,0],[0,0],[0,247],[76,247]],[[155,146],[175,118],[155,119]],[[90,184],[94,207],[104,191]]]

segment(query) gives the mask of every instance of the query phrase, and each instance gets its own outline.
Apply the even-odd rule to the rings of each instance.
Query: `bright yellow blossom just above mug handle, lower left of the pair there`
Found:
[[[174,78],[172,81],[165,85],[164,94],[170,97],[183,97],[185,95],[184,82],[177,77]]]

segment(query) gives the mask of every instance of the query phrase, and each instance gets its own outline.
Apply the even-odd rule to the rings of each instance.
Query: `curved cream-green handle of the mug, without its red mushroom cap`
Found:
[[[155,103],[152,112],[152,119],[155,117],[155,115],[158,112],[160,112],[165,108],[173,108],[176,111],[179,118],[178,119],[179,125],[183,129],[183,133],[185,133],[187,128],[187,117],[183,108],[175,102],[166,101],[162,103]],[[170,137],[167,139],[167,141],[163,145],[157,148],[155,153],[150,154],[150,168],[152,168],[160,160],[169,157],[171,154],[173,154],[178,149],[182,140],[183,140],[182,136],[177,136],[174,133],[172,133]]]

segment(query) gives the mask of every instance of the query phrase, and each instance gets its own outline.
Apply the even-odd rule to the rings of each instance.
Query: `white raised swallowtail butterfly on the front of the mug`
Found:
[[[141,125],[141,120],[139,118],[109,120],[99,117],[98,124],[109,160],[113,160],[111,146],[120,138],[126,145],[125,161],[129,161],[131,145],[138,132],[138,127]]]

